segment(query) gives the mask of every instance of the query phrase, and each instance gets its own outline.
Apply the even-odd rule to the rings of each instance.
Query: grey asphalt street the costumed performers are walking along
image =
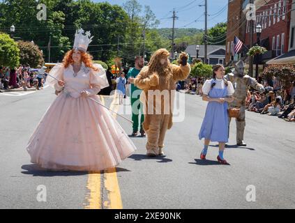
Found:
[[[181,104],[185,115],[167,132],[165,156],[147,158],[146,138],[135,137],[136,153],[116,168],[119,187],[114,190],[121,195],[117,199],[123,208],[295,208],[294,123],[247,112],[248,146],[236,148],[232,122],[225,151],[230,165],[223,166],[216,161],[215,143],[209,148],[208,160],[199,160],[203,141],[197,135],[206,102],[197,95],[179,97],[185,102]],[[91,173],[42,171],[30,163],[25,149],[54,98],[50,88],[27,95],[0,94],[0,208],[89,206]],[[106,105],[111,102],[112,98],[105,98]],[[125,103],[118,107],[119,112],[130,112],[129,100]],[[132,132],[130,123],[119,116],[117,120],[128,134]],[[40,185],[46,187],[46,202],[37,199]],[[100,188],[102,197],[112,193],[105,190],[104,183],[94,187]],[[252,201],[246,199],[249,192]],[[99,199],[105,208],[105,198]]]

